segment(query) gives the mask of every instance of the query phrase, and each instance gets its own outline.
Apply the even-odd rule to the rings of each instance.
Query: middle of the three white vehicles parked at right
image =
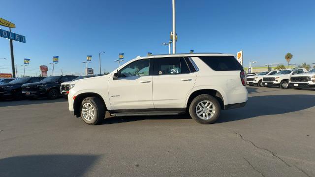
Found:
[[[304,68],[282,70],[273,76],[262,77],[262,84],[266,87],[279,87],[281,89],[287,89],[291,75],[304,72],[307,72]]]

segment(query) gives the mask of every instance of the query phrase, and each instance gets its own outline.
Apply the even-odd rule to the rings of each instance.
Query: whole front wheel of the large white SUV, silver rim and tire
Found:
[[[81,118],[87,124],[99,124],[105,117],[105,105],[98,97],[87,97],[81,104]]]

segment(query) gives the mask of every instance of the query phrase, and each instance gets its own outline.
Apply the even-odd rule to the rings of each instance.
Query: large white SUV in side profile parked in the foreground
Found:
[[[245,72],[233,55],[137,57],[112,73],[70,84],[69,110],[88,124],[111,116],[179,115],[212,123],[220,111],[245,106]]]

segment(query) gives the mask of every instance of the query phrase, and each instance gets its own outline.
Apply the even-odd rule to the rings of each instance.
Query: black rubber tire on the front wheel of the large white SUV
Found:
[[[94,118],[92,118],[91,120],[87,120],[86,118],[84,118],[83,115],[83,105],[86,103],[90,103],[94,109]],[[84,100],[81,103],[81,118],[87,124],[96,125],[101,123],[105,118],[105,111],[106,111],[105,105],[102,102],[102,100],[98,97],[92,96],[84,98]]]

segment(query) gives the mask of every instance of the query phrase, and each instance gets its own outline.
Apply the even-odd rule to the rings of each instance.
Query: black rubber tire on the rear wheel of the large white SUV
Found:
[[[196,107],[202,101],[210,101],[211,103],[213,103],[213,107],[215,108],[215,113],[212,116],[212,118],[205,120],[205,119],[198,117],[198,115],[196,113]],[[202,123],[202,124],[210,124],[210,123],[215,122],[219,118],[220,112],[221,112],[221,106],[220,106],[219,101],[215,97],[208,95],[208,94],[201,94],[201,95],[196,96],[192,100],[192,102],[189,106],[190,117],[193,118],[194,120],[196,120],[198,123]]]

